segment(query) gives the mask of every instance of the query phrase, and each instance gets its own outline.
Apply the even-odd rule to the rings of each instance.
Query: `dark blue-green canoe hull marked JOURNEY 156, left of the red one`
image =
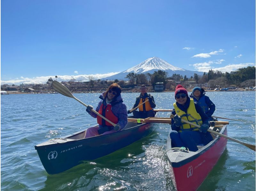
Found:
[[[133,123],[134,124],[134,123]],[[107,135],[82,138],[84,131],[35,146],[48,174],[66,171],[84,160],[93,160],[124,148],[153,132],[152,124],[140,124]],[[81,135],[79,135],[81,134]],[[74,140],[74,137],[81,139]]]

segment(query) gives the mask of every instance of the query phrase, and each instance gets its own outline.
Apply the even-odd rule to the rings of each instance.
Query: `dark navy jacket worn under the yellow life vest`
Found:
[[[181,105],[179,104],[178,102],[176,102],[178,108],[180,108],[180,110],[184,111],[184,112],[187,112],[187,109],[188,109],[188,106],[189,106],[189,103],[190,103],[190,99],[187,98],[187,102],[185,103],[185,105]],[[204,113],[203,109],[200,107],[200,105],[198,105],[197,103],[195,103],[195,108],[196,108],[196,112],[201,116],[202,118],[202,121],[203,121],[203,124],[207,124],[208,126],[210,126],[210,118],[208,118],[208,116]],[[176,112],[175,110],[173,109],[172,110],[172,114],[173,115],[176,115]],[[179,131],[180,130],[180,127],[177,127],[175,124],[174,124],[174,120],[172,119],[172,130],[174,131]]]

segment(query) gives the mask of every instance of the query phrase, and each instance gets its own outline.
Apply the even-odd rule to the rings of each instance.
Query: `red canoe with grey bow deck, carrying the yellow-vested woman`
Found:
[[[219,133],[227,135],[226,125],[219,130]],[[171,139],[168,138],[167,150],[170,150],[166,152],[166,157],[172,181],[178,191],[196,190],[219,160],[228,140],[219,135],[212,136],[215,138],[205,146],[197,146],[199,150],[196,152],[172,150]]]

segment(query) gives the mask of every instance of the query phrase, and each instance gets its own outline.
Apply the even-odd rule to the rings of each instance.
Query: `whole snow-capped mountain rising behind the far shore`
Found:
[[[155,71],[162,70],[168,73],[168,77],[172,76],[172,74],[180,74],[184,77],[184,75],[187,76],[187,78],[190,78],[190,76],[194,77],[194,73],[198,75],[203,75],[204,72],[198,72],[198,71],[190,71],[190,70],[185,70],[182,68],[178,68],[176,66],[173,66],[169,64],[168,62],[164,61],[161,58],[158,57],[151,57],[148,58],[147,60],[141,62],[140,64],[129,68],[128,70],[125,70],[123,72],[117,73],[113,76],[109,76],[106,78],[103,78],[102,80],[127,80],[125,77],[129,73],[136,73],[136,74],[141,74],[141,73],[154,73]]]

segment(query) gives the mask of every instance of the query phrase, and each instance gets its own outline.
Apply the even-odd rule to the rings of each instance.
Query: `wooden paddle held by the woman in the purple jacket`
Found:
[[[79,99],[77,99],[75,96],[73,96],[73,94],[71,94],[71,92],[68,90],[68,88],[66,88],[63,84],[61,84],[60,82],[54,80],[52,82],[52,88],[55,89],[57,92],[59,92],[60,94],[67,96],[67,97],[71,97],[74,98],[76,101],[78,101],[79,103],[82,103],[85,107],[87,107],[87,105],[83,102],[81,102]],[[98,116],[100,116],[101,118],[105,119],[106,121],[108,121],[108,123],[110,123],[113,126],[116,126],[115,123],[112,123],[110,120],[108,120],[107,118],[105,118],[104,116],[100,115],[100,113],[98,113],[95,110],[91,110],[93,113],[97,114]]]

